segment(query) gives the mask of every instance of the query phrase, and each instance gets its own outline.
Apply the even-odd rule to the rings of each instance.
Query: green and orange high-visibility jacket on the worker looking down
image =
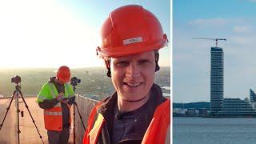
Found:
[[[74,97],[74,90],[70,84],[64,84],[65,92],[64,98]],[[38,94],[37,102],[43,102],[46,99],[54,99],[58,96],[58,90],[53,83],[47,82],[42,86],[42,90]],[[71,106],[67,104],[70,108]],[[50,109],[44,109],[44,122],[46,130],[62,130],[62,105],[61,102],[58,102],[56,106]],[[70,118],[71,125],[71,118]]]

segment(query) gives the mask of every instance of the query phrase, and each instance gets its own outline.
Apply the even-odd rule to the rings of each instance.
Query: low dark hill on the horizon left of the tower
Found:
[[[173,103],[173,108],[195,108],[196,110],[206,108],[207,110],[210,110],[210,102]]]

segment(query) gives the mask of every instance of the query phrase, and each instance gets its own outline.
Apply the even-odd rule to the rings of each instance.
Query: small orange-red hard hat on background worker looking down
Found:
[[[70,75],[70,68],[68,66],[58,68],[57,78],[62,82],[70,82]]]

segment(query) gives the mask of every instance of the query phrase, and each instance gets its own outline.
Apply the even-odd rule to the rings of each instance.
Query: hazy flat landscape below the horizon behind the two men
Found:
[[[12,95],[15,86],[14,83],[10,82],[10,78],[19,75],[22,78],[22,94],[24,96],[38,95],[42,85],[50,77],[56,75],[56,70],[58,69],[0,69],[0,94],[3,96]],[[106,76],[106,72],[105,67],[71,69],[71,77],[75,76],[82,81],[76,86],[76,93],[98,100],[114,93],[111,78]],[[170,67],[161,67],[156,73],[154,82],[160,86],[170,86]],[[170,93],[170,90],[163,89],[163,91]]]

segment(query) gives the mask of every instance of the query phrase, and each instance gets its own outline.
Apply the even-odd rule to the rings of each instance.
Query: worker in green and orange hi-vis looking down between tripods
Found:
[[[57,77],[50,78],[38,94],[37,102],[43,109],[50,144],[66,144],[70,138],[70,107],[75,97],[69,82],[70,68],[61,66]]]

